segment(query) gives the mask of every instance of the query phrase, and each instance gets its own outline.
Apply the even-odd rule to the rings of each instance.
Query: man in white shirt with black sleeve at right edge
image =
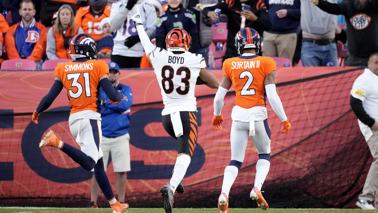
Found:
[[[367,67],[353,83],[350,105],[374,158],[356,205],[363,209],[375,209],[372,200],[374,198],[375,206],[378,206],[378,193],[375,193],[378,191],[378,52],[370,55]]]

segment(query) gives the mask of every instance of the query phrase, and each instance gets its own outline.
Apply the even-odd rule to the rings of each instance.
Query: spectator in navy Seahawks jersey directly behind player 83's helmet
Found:
[[[167,49],[166,36],[167,33],[175,27],[186,30],[192,39],[191,53],[197,51],[197,21],[192,11],[184,9],[181,5],[182,0],[167,0],[168,9],[160,14],[156,20],[156,47]]]

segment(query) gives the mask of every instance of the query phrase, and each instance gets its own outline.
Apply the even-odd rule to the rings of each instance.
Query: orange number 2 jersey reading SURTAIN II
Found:
[[[235,105],[243,108],[265,107],[265,77],[276,70],[273,58],[258,55],[228,58],[223,62],[223,74],[232,81]]]

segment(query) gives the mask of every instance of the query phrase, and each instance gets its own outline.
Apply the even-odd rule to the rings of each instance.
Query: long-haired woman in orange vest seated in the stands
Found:
[[[48,59],[68,58],[69,42],[71,38],[79,33],[84,33],[74,20],[74,13],[70,5],[60,6],[57,18],[53,27],[47,33],[46,55]]]

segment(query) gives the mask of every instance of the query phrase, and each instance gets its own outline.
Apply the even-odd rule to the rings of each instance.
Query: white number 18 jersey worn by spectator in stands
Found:
[[[126,7],[127,0],[121,0],[112,4],[112,10],[110,12],[110,19],[113,19],[119,11]],[[142,24],[144,31],[146,31],[149,38],[155,38],[156,31],[156,10],[155,7],[146,3],[137,3],[127,14],[127,18],[121,28],[116,30],[116,36],[113,38],[113,51],[112,55],[122,55],[129,57],[142,57],[144,55],[144,49],[141,42],[136,43],[131,48],[125,46],[125,40],[130,36],[138,36],[135,25],[131,17],[136,14],[136,7],[139,7],[139,13],[141,14]]]

